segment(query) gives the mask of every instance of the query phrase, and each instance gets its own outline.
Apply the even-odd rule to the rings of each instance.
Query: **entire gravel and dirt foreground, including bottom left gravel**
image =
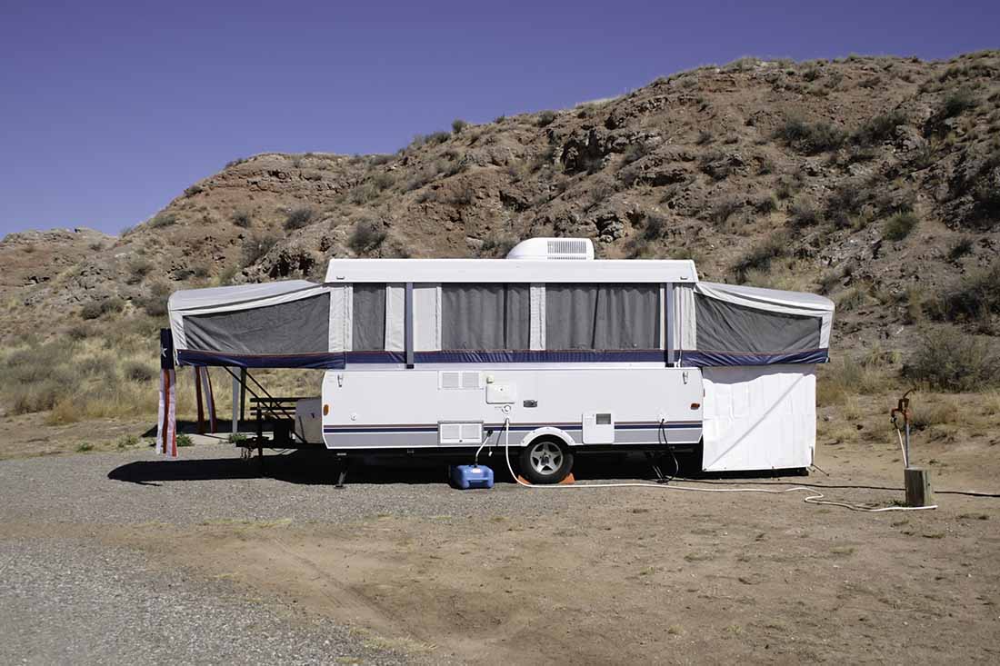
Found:
[[[579,462],[584,483],[649,472],[641,459]],[[862,466],[808,480],[886,483]],[[995,509],[982,500],[901,517],[833,513],[798,495],[709,501],[509,480],[460,492],[441,462],[356,469],[343,490],[327,457],[272,454],[266,471],[227,444],[178,461],[146,448],[0,461],[0,664],[531,663],[518,646],[556,611],[567,630],[546,656],[581,663],[654,661],[681,644],[692,652],[666,661],[768,661],[803,647],[806,660],[864,661],[872,645],[889,649],[900,609],[918,607],[902,629],[912,655],[887,660],[933,661],[942,655],[913,645],[947,644],[961,627],[965,656],[995,653]],[[830,495],[886,504],[899,493]],[[536,570],[550,587],[537,589]],[[928,606],[931,574],[943,582]],[[885,612],[873,607],[883,599]],[[610,624],[592,610],[604,606]],[[343,622],[358,626],[356,611],[391,626],[352,631]],[[418,644],[400,642],[411,636]],[[609,641],[632,651],[608,652]]]

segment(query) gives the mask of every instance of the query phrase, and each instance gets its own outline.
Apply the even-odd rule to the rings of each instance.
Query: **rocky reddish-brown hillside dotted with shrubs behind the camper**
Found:
[[[995,335],[1000,52],[743,59],[572,109],[456,120],[393,155],[236,160],[120,237],[5,238],[0,336],[159,317],[173,290],[316,279],[330,257],[495,257],[538,235],[828,294],[843,346],[903,346],[928,317]],[[941,304],[970,280],[986,300]]]

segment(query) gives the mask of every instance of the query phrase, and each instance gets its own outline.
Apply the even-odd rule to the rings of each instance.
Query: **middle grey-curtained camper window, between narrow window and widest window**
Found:
[[[529,349],[526,284],[441,285],[441,348]]]

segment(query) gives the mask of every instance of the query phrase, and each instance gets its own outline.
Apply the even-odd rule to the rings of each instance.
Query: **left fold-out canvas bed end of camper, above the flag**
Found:
[[[343,367],[340,288],[306,280],[178,291],[168,302],[180,365]],[[340,347],[338,349],[337,347]]]

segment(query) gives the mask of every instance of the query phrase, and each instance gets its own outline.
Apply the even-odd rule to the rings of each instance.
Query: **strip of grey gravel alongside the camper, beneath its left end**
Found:
[[[283,518],[344,523],[386,514],[550,515],[578,502],[573,493],[544,490],[525,502],[523,491],[510,483],[498,483],[489,492],[459,492],[444,483],[441,462],[422,468],[359,468],[352,470],[347,487],[337,490],[328,456],[266,458],[264,478],[256,459],[240,460],[226,444],[182,449],[181,458],[173,461],[148,449],[7,460],[0,462],[3,513],[9,521],[32,523],[197,524]],[[498,463],[494,460],[494,469]],[[645,474],[648,467],[616,471]],[[591,492],[597,500],[614,491]]]

